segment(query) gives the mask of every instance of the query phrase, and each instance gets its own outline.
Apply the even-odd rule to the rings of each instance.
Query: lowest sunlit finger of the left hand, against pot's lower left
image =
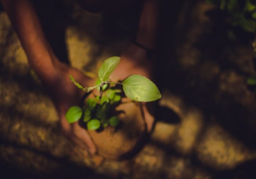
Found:
[[[79,140],[82,141],[88,147],[90,153],[96,153],[96,146],[93,140],[91,139],[89,133],[85,129],[80,127],[78,122],[72,123],[71,127],[75,136],[78,137]]]

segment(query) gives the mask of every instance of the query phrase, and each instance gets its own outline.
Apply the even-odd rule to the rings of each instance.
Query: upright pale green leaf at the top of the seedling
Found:
[[[105,82],[120,62],[120,57],[110,57],[105,60],[99,69],[99,79]]]

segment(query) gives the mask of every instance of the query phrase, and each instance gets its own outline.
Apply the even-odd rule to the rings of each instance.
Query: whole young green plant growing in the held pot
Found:
[[[110,57],[105,60],[99,69],[95,86],[82,87],[70,75],[71,81],[86,93],[91,92],[94,88],[99,90],[99,95],[94,98],[88,98],[86,104],[80,108],[72,106],[69,108],[66,118],[69,123],[79,119],[86,123],[87,129],[97,130],[107,126],[118,126],[119,119],[113,115],[113,108],[121,102],[121,93],[137,102],[150,102],[161,98],[157,86],[144,76],[131,75],[120,82],[113,82],[109,79],[114,69],[120,62],[120,57]],[[116,88],[116,84],[123,85],[123,91]]]

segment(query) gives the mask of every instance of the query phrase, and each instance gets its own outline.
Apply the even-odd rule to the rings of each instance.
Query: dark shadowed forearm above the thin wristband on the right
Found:
[[[161,0],[144,0],[136,41],[153,49],[157,46],[159,5]]]

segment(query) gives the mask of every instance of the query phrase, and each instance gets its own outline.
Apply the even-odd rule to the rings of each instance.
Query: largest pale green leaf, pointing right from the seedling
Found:
[[[139,102],[150,102],[162,97],[157,86],[144,76],[131,75],[123,82],[125,95]]]

